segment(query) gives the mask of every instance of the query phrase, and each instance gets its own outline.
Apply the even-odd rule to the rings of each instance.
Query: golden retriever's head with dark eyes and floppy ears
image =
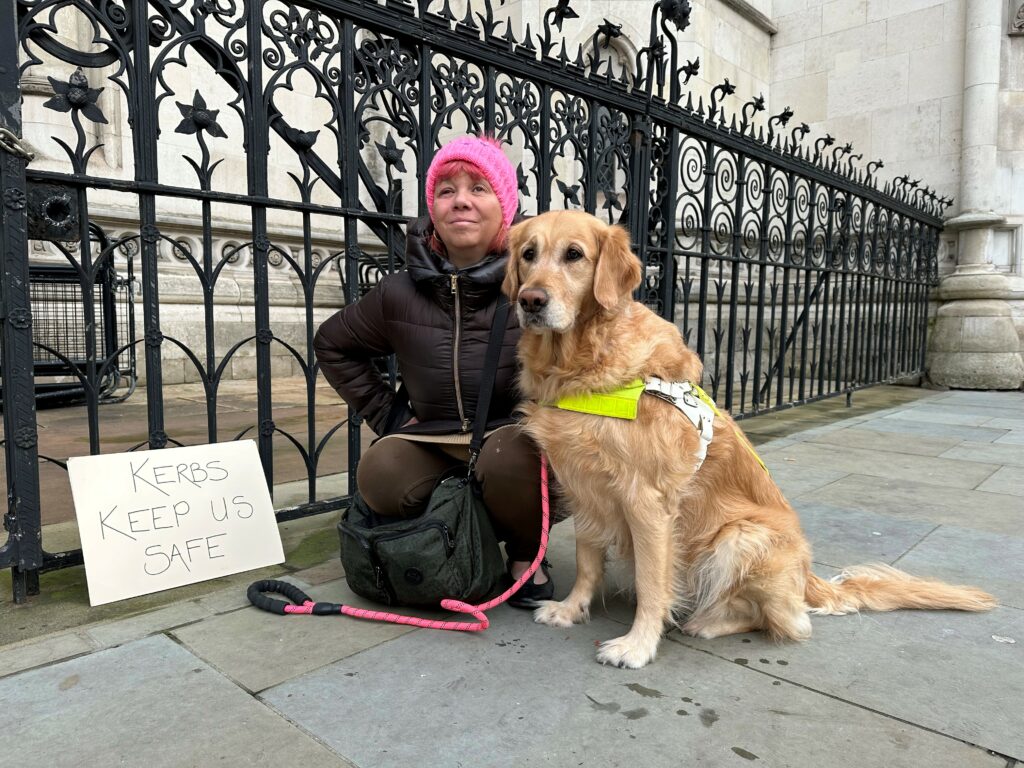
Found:
[[[526,331],[569,331],[598,309],[614,311],[640,285],[629,233],[582,211],[551,211],[509,232],[502,291]]]

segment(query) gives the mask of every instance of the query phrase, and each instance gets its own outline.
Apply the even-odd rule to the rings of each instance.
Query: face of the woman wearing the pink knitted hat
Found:
[[[484,178],[462,171],[434,187],[434,229],[459,268],[487,255],[502,228],[502,206]]]

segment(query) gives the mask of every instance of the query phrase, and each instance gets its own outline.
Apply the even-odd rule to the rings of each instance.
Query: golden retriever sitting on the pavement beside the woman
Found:
[[[625,229],[579,211],[513,227],[503,290],[515,302],[525,429],[548,456],[573,515],[577,581],[535,620],[588,621],[609,549],[632,560],[636,613],[603,642],[602,664],[640,668],[669,623],[703,638],[764,630],[810,637],[808,613],[860,608],[985,610],[981,590],[863,565],[834,582],[811,571],[793,507],[728,416],[698,465],[699,435],[672,402],[644,394],[635,420],[553,407],[560,398],[657,377],[699,383],[701,362],[671,323],[632,299],[640,263]]]

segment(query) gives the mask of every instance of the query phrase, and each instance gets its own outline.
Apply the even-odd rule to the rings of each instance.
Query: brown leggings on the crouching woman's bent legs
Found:
[[[464,463],[468,449],[378,440],[359,459],[355,481],[370,508],[386,517],[415,517],[426,508],[437,478]],[[490,521],[510,560],[532,560],[541,542],[541,457],[516,426],[503,427],[483,442],[476,478]]]

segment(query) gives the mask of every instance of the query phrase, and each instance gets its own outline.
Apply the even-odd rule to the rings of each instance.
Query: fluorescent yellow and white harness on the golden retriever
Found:
[[[711,444],[712,438],[715,436],[715,417],[721,416],[721,414],[715,406],[715,400],[693,382],[663,381],[652,376],[646,382],[642,379],[636,379],[625,387],[610,392],[592,392],[562,397],[555,403],[555,408],[562,411],[575,411],[581,414],[633,420],[637,418],[640,395],[644,392],[671,402],[679,409],[680,413],[700,434],[695,467],[695,469],[700,469],[700,465],[703,464],[705,458],[708,456],[708,445]],[[751,452],[751,456],[757,459],[758,464],[767,472],[768,467],[761,461],[761,457],[757,455],[746,437],[741,432],[737,432],[737,434],[746,450]]]

